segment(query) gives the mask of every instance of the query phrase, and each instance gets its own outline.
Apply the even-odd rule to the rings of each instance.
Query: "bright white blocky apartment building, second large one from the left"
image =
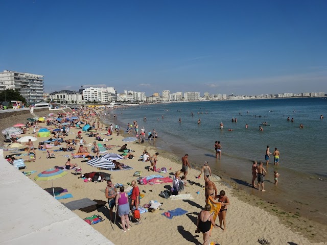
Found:
[[[116,100],[117,91],[113,87],[83,89],[84,101],[107,103]]]

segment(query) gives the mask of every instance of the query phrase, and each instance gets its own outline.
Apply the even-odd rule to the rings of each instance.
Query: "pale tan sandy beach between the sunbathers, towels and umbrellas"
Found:
[[[40,126],[45,127],[45,124],[41,124]],[[26,135],[32,135],[31,131],[32,130]],[[74,139],[78,131],[80,130],[71,128],[71,131],[65,139]],[[98,132],[103,135],[106,133],[104,130]],[[84,132],[82,134],[90,150],[90,145],[95,141],[94,137],[84,136]],[[108,138],[108,136],[103,137]],[[108,150],[107,153],[119,153],[119,146],[125,144],[125,142],[122,141],[123,138],[123,135],[116,136],[113,134],[112,140],[107,142],[97,141],[97,143],[116,145],[112,150]],[[34,146],[37,148],[38,142],[46,139],[48,138],[38,138],[38,141],[34,142]],[[64,143],[62,143],[62,147],[65,147]],[[59,146],[54,147],[52,150],[58,148]],[[119,160],[125,165],[131,166],[133,169],[101,171],[111,174],[112,182],[124,184],[125,188],[128,186],[128,182],[136,180],[137,177],[133,177],[135,171],[142,171],[141,176],[153,174],[152,171],[148,172],[149,162],[138,161],[139,156],[142,155],[145,148],[151,156],[155,154],[155,152],[159,153],[157,168],[166,167],[168,170],[168,173],[161,174],[162,176],[173,176],[175,171],[181,169],[181,161],[176,162],[176,159],[170,157],[169,153],[156,150],[146,141],[144,144],[132,142],[131,149],[135,151],[133,153],[135,157],[133,159]],[[8,152],[6,152],[5,155],[7,153]],[[36,170],[37,173],[27,178],[34,181],[34,177],[41,171],[53,168],[56,165],[65,165],[68,158],[64,157],[64,155],[71,156],[70,152],[56,152],[55,154],[56,158],[46,159],[46,151],[36,150],[35,162],[27,162],[26,165],[28,171]],[[189,152],[188,154],[192,153]],[[91,153],[91,155],[94,155],[94,153]],[[28,157],[25,156],[22,158],[27,159]],[[83,158],[70,158],[72,159],[72,163],[78,164],[82,168],[83,174],[98,170],[97,168],[87,165],[86,162],[81,162],[85,160]],[[169,170],[170,168],[171,170]],[[103,192],[107,185],[106,182],[84,182],[83,179],[78,178],[79,175],[75,175],[74,170],[67,171],[68,174],[66,176],[54,180],[53,184],[54,187],[67,189],[67,193],[71,193],[73,198],[59,200],[59,203],[67,203],[83,198],[107,201],[105,193]],[[151,200],[155,200],[159,203],[163,203],[161,208],[164,210],[141,214],[142,223],[139,225],[132,224],[132,227],[126,233],[123,233],[121,230],[120,219],[118,219],[119,223],[115,225],[113,230],[114,225],[109,222],[108,204],[90,213],[80,210],[74,210],[73,212],[81,218],[86,218],[93,214],[101,215],[105,220],[101,223],[92,225],[92,227],[118,245],[130,243],[161,244],[162,242],[174,244],[202,244],[202,233],[195,233],[198,213],[205,205],[204,188],[202,187],[204,186],[203,175],[200,179],[196,178],[199,173],[200,171],[198,169],[192,168],[189,170],[188,180],[190,180],[192,185],[188,184],[183,192],[190,193],[193,197],[192,200],[172,201],[159,197],[158,194],[160,191],[165,190],[165,186],[172,185],[172,183],[138,185],[141,193],[145,194],[145,197],[141,200],[142,206],[149,203]],[[239,191],[233,188],[233,186],[227,187],[220,181],[219,177],[213,176],[211,180],[215,182],[218,192],[220,190],[225,190],[230,201],[226,216],[227,229],[224,232],[222,232],[219,227],[213,229],[210,239],[211,242],[215,241],[220,244],[260,244],[258,239],[264,238],[270,241],[271,244],[326,244],[324,242],[327,240],[325,226],[301,218],[299,214],[285,213],[283,210],[279,210],[275,207],[274,204],[264,203],[264,201]],[[51,181],[35,182],[43,189],[52,187]],[[199,191],[199,194],[197,191]],[[44,192],[44,194],[48,193]],[[182,208],[186,210],[187,213],[181,216],[175,216],[172,219],[168,219],[164,215],[161,215],[161,213],[175,208]],[[218,218],[216,219],[216,224],[219,224]]]

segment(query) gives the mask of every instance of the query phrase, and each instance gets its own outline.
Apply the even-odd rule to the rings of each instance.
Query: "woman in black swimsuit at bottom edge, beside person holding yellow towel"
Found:
[[[210,237],[210,230],[211,226],[216,227],[215,220],[213,215],[210,213],[211,206],[206,204],[204,209],[199,213],[196,225],[197,229],[195,230],[196,233],[200,231],[203,234],[203,245],[208,245],[209,237]]]

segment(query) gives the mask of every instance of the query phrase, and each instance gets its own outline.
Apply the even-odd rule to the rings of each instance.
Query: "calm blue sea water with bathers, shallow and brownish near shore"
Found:
[[[213,173],[224,175],[240,188],[266,200],[277,199],[284,208],[300,208],[301,214],[327,224],[327,118],[320,119],[321,114],[327,116],[326,98],[151,104],[110,114],[116,114],[118,120],[111,116],[108,122],[120,124],[125,131],[134,120],[139,130],[145,127],[146,136],[155,129],[157,140],[145,146],[151,143],[179,157],[187,153],[198,167],[208,161]],[[219,129],[221,122],[223,129]],[[263,122],[270,126],[259,131]],[[216,140],[222,145],[221,160],[215,158]],[[274,166],[273,157],[265,166],[267,145],[271,153],[274,148],[280,152],[279,166]],[[268,170],[265,193],[251,188],[252,160],[264,162]],[[274,185],[274,170],[281,175],[278,186]]]

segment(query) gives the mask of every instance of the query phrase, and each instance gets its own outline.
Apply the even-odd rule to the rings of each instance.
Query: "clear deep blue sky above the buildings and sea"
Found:
[[[145,91],[327,92],[326,1],[0,3],[0,70]]]

